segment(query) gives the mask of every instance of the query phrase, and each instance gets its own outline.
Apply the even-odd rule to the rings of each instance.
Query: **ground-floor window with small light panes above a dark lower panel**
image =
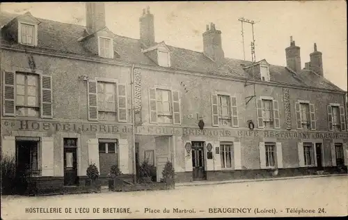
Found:
[[[110,173],[113,165],[119,165],[117,139],[99,139],[100,175]]]

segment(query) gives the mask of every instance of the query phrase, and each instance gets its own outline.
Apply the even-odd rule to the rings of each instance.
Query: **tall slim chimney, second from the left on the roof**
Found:
[[[155,45],[155,24],[154,16],[150,14],[150,8],[148,7],[146,12],[143,9],[143,15],[139,18],[140,22],[140,40],[146,46],[150,47]]]

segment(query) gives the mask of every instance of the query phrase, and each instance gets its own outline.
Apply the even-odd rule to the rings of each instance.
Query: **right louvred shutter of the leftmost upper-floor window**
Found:
[[[53,118],[53,107],[52,107],[52,76],[41,75],[41,117],[42,118]]]

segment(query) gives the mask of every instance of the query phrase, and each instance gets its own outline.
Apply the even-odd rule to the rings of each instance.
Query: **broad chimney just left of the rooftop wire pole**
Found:
[[[221,31],[215,29],[215,24],[207,24],[207,30],[203,33],[203,53],[216,63],[223,61],[225,54],[221,45]]]

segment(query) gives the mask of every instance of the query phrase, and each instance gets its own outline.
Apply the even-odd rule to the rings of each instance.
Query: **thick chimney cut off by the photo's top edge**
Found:
[[[105,6],[104,2],[86,3],[86,27],[88,33],[100,31],[105,24]]]

